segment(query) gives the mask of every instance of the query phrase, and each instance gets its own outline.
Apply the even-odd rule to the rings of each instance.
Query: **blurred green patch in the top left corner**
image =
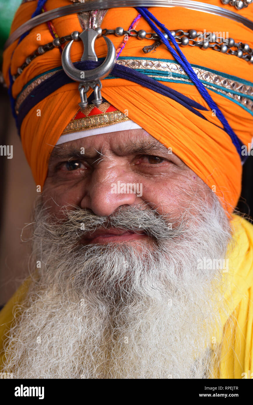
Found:
[[[2,51],[4,43],[9,36],[11,23],[15,12],[21,4],[21,0],[0,0],[0,52],[2,58]]]

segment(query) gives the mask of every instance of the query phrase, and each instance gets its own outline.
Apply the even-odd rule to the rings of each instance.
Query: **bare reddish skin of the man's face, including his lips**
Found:
[[[142,196],[113,194],[111,185],[117,181],[142,183]],[[198,191],[207,199],[210,189],[178,156],[168,153],[145,130],[135,129],[88,136],[55,147],[49,159],[43,201],[57,217],[61,217],[63,206],[76,205],[109,216],[121,206],[144,201],[160,214],[180,215],[189,207],[187,191]],[[87,243],[146,238],[142,232],[100,233],[93,234]]]

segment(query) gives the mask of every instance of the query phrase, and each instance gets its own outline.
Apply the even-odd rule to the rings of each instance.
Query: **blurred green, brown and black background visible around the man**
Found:
[[[11,21],[21,0],[0,0],[0,64]],[[28,274],[30,244],[22,243],[21,230],[31,221],[38,195],[11,114],[7,89],[0,85],[0,145],[13,145],[13,158],[0,156],[0,307]],[[253,214],[253,156],[243,167],[242,196],[238,209]]]

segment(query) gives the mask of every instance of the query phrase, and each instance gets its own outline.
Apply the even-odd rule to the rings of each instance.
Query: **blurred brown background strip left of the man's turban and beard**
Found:
[[[3,91],[5,90],[5,91]],[[13,145],[13,158],[0,156],[0,306],[15,292],[28,273],[30,243],[20,239],[31,220],[36,187],[17,136],[6,89],[0,90],[0,145]]]

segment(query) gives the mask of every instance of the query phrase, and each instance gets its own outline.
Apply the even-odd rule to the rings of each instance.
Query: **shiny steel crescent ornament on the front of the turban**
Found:
[[[70,58],[70,49],[74,42],[71,40],[62,51],[62,68],[66,75],[75,81],[79,81],[80,83],[97,81],[108,76],[116,64],[116,49],[114,44],[109,38],[107,38],[107,36],[103,35],[103,38],[105,38],[105,42],[107,44],[107,56],[100,66],[92,70],[79,70],[75,68]],[[81,78],[81,73],[84,78]]]

